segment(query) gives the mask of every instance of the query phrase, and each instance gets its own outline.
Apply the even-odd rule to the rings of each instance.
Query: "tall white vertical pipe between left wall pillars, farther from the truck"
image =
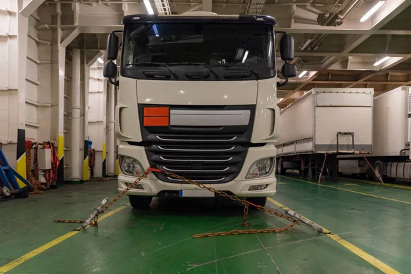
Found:
[[[80,50],[73,49],[71,60],[71,180],[81,179],[80,174]]]

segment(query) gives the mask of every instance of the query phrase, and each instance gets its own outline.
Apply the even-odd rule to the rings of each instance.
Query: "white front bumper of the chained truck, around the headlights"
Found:
[[[119,145],[119,155],[127,155],[129,157],[136,158],[142,164],[143,169],[149,167],[147,155],[144,147],[138,147],[122,143]],[[275,195],[277,186],[277,180],[274,176],[274,166],[271,169],[271,174],[268,177],[261,179],[245,179],[247,172],[254,162],[261,158],[273,157],[275,159],[276,149],[273,144],[267,144],[264,147],[250,147],[247,152],[247,157],[242,165],[242,169],[236,179],[224,184],[206,184],[206,186],[212,187],[216,190],[223,190],[232,192],[238,197],[269,197]],[[123,191],[127,186],[126,184],[133,183],[136,177],[125,175],[120,171],[119,174],[119,192]],[[132,188],[127,192],[127,195],[139,195],[139,196],[157,196],[162,191],[178,191],[181,189],[195,189],[197,186],[190,184],[175,184],[162,182],[157,179],[155,175],[147,175],[147,179],[140,181],[141,186],[144,189]],[[249,191],[249,187],[259,184],[268,184],[264,190]]]

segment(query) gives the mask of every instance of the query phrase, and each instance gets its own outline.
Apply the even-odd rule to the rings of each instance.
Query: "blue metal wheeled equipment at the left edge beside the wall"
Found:
[[[27,182],[23,176],[12,169],[1,148],[0,168],[0,196],[9,197],[10,195],[14,195],[16,198],[29,197],[29,191],[32,189],[32,185]],[[20,179],[21,182],[18,182],[16,177]]]

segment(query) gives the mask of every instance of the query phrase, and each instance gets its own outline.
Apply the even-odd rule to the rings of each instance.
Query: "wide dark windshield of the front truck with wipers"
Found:
[[[273,26],[246,23],[125,25],[121,75],[136,79],[275,77]]]

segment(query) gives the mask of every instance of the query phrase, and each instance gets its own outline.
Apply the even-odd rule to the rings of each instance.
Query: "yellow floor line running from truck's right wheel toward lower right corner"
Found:
[[[276,206],[279,206],[280,208],[282,208],[284,210],[291,210],[290,208],[287,208],[286,206],[284,206],[282,203],[279,203],[278,201],[275,201],[275,200],[271,199],[270,197],[268,199],[269,199],[269,201],[271,201],[271,203],[274,203]],[[294,210],[292,210],[292,211],[294,211]],[[299,215],[301,215],[301,214],[299,214]],[[303,216],[303,215],[301,215],[301,216]],[[304,217],[304,218],[306,218],[306,217]],[[306,218],[306,219],[311,221],[308,218]],[[315,223],[313,221],[311,221],[311,222]],[[316,224],[316,225],[319,225],[319,224]],[[321,225],[319,225],[319,226],[321,226]],[[338,236],[336,234],[333,234],[332,232],[330,232],[325,227],[323,227],[323,231],[325,232],[325,235],[327,235],[329,238],[332,238],[332,240],[335,240],[340,245],[342,245],[343,247],[345,247],[346,249],[348,249],[352,253],[356,254],[356,256],[362,258],[363,260],[366,260],[366,262],[369,262],[370,264],[375,266],[380,271],[382,271],[384,273],[387,273],[387,274],[399,274],[399,272],[396,271],[395,269],[393,269],[392,267],[388,266],[387,264],[384,264],[384,262],[381,262],[377,258],[371,256],[369,253],[366,253],[362,249],[360,249],[360,248],[356,247],[355,245],[351,244],[351,242],[347,242],[347,240],[344,240],[340,236]]]

